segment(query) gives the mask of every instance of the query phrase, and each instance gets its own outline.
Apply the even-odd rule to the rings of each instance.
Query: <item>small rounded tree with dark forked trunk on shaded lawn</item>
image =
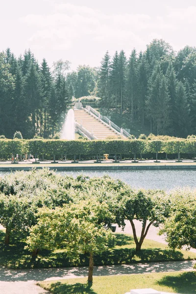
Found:
[[[116,210],[118,225],[125,226],[124,220],[131,223],[133,237],[136,244],[136,251],[141,250],[142,244],[147,236],[151,225],[158,227],[165,221],[169,213],[169,201],[164,191],[140,190],[124,191],[122,200]],[[142,231],[138,239],[134,220],[142,222]]]

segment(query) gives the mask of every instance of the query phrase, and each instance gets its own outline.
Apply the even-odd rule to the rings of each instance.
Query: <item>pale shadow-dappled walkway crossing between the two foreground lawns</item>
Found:
[[[95,267],[94,276],[121,275],[133,273],[193,270],[195,261],[175,261],[136,265]],[[88,268],[6,270],[0,269],[0,294],[42,294],[47,293],[35,285],[38,281],[87,277]]]

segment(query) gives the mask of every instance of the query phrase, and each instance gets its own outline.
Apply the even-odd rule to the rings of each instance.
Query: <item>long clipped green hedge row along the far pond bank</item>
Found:
[[[0,158],[8,159],[12,155],[31,153],[37,157],[58,155],[97,155],[97,154],[196,154],[196,140],[9,140],[0,139]]]

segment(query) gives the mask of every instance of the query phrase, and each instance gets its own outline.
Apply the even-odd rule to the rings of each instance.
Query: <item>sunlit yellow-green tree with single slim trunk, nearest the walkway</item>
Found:
[[[114,239],[111,230],[106,230],[101,222],[106,215],[111,218],[108,206],[96,200],[40,210],[38,223],[27,238],[27,248],[35,254],[38,248],[50,250],[63,246],[68,257],[76,259],[88,253],[88,283],[92,284],[94,254],[107,250],[108,243]]]

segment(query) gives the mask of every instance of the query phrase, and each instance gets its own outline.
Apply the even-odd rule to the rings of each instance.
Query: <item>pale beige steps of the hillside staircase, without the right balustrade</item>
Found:
[[[84,109],[74,109],[75,121],[82,125],[87,131],[94,134],[97,139],[105,139],[108,136],[118,136],[118,134],[110,129],[104,123],[99,122],[94,116],[86,112]]]

